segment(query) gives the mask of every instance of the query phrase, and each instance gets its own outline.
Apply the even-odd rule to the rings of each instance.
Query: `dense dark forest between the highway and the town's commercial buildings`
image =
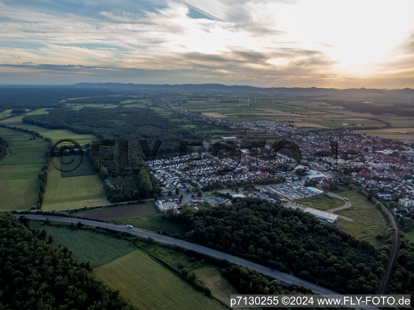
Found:
[[[261,199],[164,216],[182,224],[189,241],[283,272],[290,269],[340,293],[375,293],[388,262],[385,248],[376,250],[313,215]]]

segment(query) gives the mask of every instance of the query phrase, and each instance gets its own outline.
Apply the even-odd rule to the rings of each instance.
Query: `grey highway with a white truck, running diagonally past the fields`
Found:
[[[75,224],[77,222],[81,222],[82,224],[85,224],[85,225],[100,226],[100,227],[104,227],[104,228],[108,228],[108,229],[114,229],[114,230],[117,230],[117,231],[125,231],[125,232],[128,232],[130,234],[134,234],[134,235],[141,236],[141,237],[144,237],[144,238],[151,237],[155,241],[160,242],[160,243],[178,245],[181,248],[194,250],[196,252],[203,253],[203,254],[212,256],[214,258],[224,259],[224,260],[227,260],[227,261],[232,262],[234,264],[237,264],[237,265],[240,265],[240,266],[243,266],[243,267],[248,267],[250,269],[261,272],[262,274],[266,274],[270,277],[274,277],[275,279],[278,279],[280,281],[280,283],[284,286],[289,286],[291,284],[296,284],[298,286],[303,286],[307,289],[311,289],[314,293],[321,293],[322,295],[340,295],[339,293],[336,293],[336,292],[331,291],[329,289],[325,289],[322,286],[319,286],[319,285],[316,285],[314,283],[299,279],[297,277],[294,277],[293,275],[285,274],[283,272],[270,269],[269,267],[256,264],[255,262],[250,262],[250,261],[245,260],[243,258],[239,258],[239,257],[233,256],[233,255],[230,255],[230,254],[227,254],[227,253],[224,253],[224,252],[213,250],[213,249],[207,248],[205,246],[200,246],[198,244],[191,243],[191,242],[188,242],[188,241],[182,241],[180,239],[176,239],[176,238],[172,238],[172,237],[168,237],[168,236],[164,236],[164,235],[160,235],[160,234],[155,234],[151,231],[146,231],[146,230],[141,229],[141,228],[137,228],[137,227],[128,228],[128,227],[125,227],[124,225],[117,225],[117,224],[111,224],[111,223],[106,223],[106,222],[98,222],[98,221],[93,221],[93,220],[89,220],[89,219],[77,219],[77,218],[73,218],[73,217],[60,217],[60,216],[54,216],[54,215],[15,214],[14,216],[20,217],[21,215],[25,215],[25,216],[29,217],[30,219],[37,219],[37,220],[45,220],[46,218],[49,218],[49,220],[51,220],[51,221],[58,221],[58,222],[67,222],[67,223],[75,223]],[[376,308],[373,308],[373,307],[364,307],[364,308],[365,309],[376,309]]]

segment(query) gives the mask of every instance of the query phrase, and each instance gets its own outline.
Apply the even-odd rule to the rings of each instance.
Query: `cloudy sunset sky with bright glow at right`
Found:
[[[414,88],[414,1],[0,0],[0,83]]]

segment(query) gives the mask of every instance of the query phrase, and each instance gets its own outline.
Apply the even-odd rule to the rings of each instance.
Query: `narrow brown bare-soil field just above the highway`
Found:
[[[76,213],[76,216],[87,217],[88,219],[99,219],[108,221],[111,219],[120,219],[123,217],[135,217],[142,215],[154,214],[156,211],[153,202],[141,203],[139,205],[127,205],[123,207],[108,207],[102,210],[91,210]]]

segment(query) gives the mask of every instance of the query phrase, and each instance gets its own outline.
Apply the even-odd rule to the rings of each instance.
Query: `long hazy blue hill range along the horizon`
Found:
[[[255,87],[246,85],[223,84],[123,84],[123,83],[77,83],[69,87],[77,88],[107,88],[107,89],[154,89],[154,90],[189,90],[189,91],[233,91],[233,92],[257,92],[257,93],[297,93],[312,95],[414,95],[414,89],[376,89],[376,88],[302,88],[302,87]]]

